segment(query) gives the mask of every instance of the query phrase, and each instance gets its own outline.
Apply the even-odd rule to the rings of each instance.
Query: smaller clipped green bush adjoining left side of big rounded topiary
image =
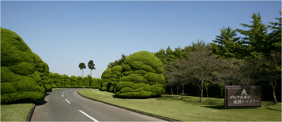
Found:
[[[114,90],[117,82],[121,78],[122,67],[113,66],[112,69],[106,69],[101,78],[102,82],[99,89],[102,91],[112,91]]]

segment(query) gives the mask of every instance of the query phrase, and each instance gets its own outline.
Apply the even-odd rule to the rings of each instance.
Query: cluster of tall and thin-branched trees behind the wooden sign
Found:
[[[165,66],[165,88],[181,87],[183,95],[185,85],[198,86],[202,102],[203,89],[208,91],[212,85],[268,85],[277,103],[274,91],[281,81],[281,18],[270,25],[262,23],[260,13],[251,18],[252,25],[241,24],[247,30],[223,27],[212,43],[198,40],[184,49],[168,47],[155,52]]]

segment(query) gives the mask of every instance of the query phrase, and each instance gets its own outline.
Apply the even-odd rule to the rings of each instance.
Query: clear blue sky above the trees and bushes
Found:
[[[245,29],[260,11],[277,22],[281,1],[0,1],[0,25],[23,38],[50,72],[82,76],[79,63],[94,61],[92,77],[107,64],[138,51],[212,42],[223,26]],[[83,76],[90,74],[88,68]]]

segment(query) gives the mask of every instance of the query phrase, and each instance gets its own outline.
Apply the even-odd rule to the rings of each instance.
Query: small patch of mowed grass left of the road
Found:
[[[33,103],[1,105],[1,122],[24,122]]]

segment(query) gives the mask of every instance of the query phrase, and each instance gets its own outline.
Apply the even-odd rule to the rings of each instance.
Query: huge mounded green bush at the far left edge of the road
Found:
[[[1,104],[45,97],[39,61],[28,45],[13,31],[1,28]],[[42,61],[43,62],[43,61]],[[42,69],[38,69],[44,72]]]

